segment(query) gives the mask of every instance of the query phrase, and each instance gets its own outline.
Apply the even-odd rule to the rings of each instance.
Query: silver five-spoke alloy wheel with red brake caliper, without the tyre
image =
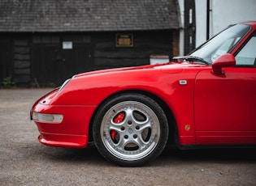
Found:
[[[158,145],[160,124],[154,111],[137,101],[124,101],[107,110],[100,135],[106,150],[118,159],[145,158]]]

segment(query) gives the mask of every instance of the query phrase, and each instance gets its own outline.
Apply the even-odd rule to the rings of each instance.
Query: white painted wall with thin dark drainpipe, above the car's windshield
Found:
[[[195,0],[196,47],[206,41],[206,0]],[[256,0],[210,0],[210,37],[229,24],[256,20]]]

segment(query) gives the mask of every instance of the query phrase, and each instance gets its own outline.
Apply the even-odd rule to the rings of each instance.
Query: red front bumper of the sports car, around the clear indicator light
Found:
[[[56,90],[58,91],[58,90]],[[31,109],[31,119],[41,133],[39,142],[47,146],[82,148],[88,145],[89,123],[96,107],[80,105],[51,105],[50,99],[56,91],[38,99]],[[38,119],[42,116],[63,116],[62,120]],[[48,118],[48,117],[47,117]]]

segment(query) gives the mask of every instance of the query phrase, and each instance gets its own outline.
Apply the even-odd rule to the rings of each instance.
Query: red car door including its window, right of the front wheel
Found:
[[[224,74],[197,74],[194,116],[197,144],[256,144],[256,35]]]

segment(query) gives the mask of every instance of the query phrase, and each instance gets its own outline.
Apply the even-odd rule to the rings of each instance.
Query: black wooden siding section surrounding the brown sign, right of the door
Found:
[[[130,33],[130,32],[125,32]],[[141,66],[150,63],[150,55],[172,56],[172,32],[132,32],[132,47],[116,47],[115,32],[94,36],[94,70]]]

